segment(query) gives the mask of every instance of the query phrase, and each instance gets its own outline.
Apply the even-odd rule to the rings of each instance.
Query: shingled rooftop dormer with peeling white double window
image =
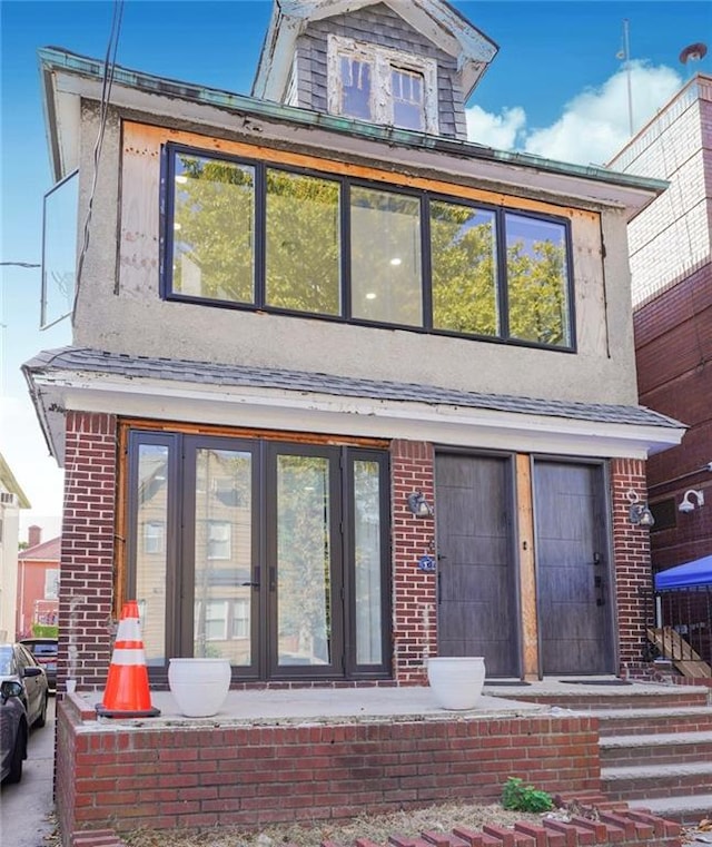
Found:
[[[283,0],[253,95],[466,139],[465,102],[496,51],[442,0]]]

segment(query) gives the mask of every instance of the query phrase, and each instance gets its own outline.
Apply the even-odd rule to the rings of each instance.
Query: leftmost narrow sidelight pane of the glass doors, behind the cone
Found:
[[[146,544],[154,526],[165,526],[168,516],[168,447],[138,447],[137,532],[144,544],[136,552],[136,598],[141,615],[146,663],[166,663],[166,546]]]

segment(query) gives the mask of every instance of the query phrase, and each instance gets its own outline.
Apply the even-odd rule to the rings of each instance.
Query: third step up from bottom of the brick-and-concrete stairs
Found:
[[[712,761],[712,731],[656,732],[654,735],[606,736],[600,739],[601,766],[686,765]]]

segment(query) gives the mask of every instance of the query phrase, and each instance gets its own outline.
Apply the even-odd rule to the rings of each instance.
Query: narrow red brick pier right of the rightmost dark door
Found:
[[[613,504],[613,560],[615,562],[620,672],[643,672],[645,628],[652,621],[653,595],[650,569],[650,530],[629,520],[634,491],[646,499],[645,463],[634,459],[611,460]]]

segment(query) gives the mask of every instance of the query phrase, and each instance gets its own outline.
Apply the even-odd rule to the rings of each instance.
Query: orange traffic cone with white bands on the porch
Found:
[[[151,707],[136,600],[123,603],[107,687],[103,700],[97,705],[97,713],[105,718],[155,718],[160,715],[159,709]]]

